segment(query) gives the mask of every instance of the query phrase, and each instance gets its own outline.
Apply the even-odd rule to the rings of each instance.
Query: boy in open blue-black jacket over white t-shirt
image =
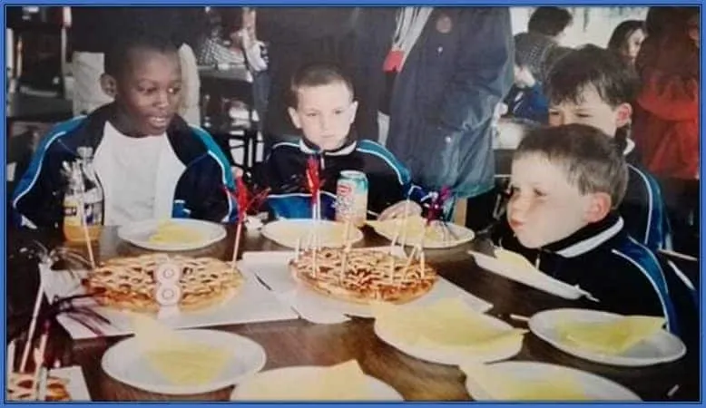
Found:
[[[121,34],[123,35],[123,34]],[[61,228],[63,162],[93,149],[103,186],[103,225],[143,219],[226,222],[237,214],[228,160],[211,136],[177,114],[181,67],[167,39],[133,33],[105,54],[103,91],[114,102],[58,124],[19,181],[12,206],[30,228]]]

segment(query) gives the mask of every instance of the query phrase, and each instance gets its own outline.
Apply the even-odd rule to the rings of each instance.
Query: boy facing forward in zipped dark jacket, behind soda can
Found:
[[[351,128],[358,102],[353,84],[336,65],[312,63],[291,80],[289,117],[301,136],[275,144],[255,171],[257,184],[269,187],[268,204],[275,218],[310,218],[305,182],[307,161],[316,158],[321,188],[321,218],[335,216],[336,184],[343,170],[368,177],[368,215],[380,220],[421,213],[424,193],[411,182],[409,171],[375,141],[358,139]],[[428,198],[429,196],[426,196]]]

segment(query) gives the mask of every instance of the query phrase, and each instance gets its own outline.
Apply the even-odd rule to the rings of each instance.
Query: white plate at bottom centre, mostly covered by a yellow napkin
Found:
[[[302,378],[316,374],[325,367],[301,365],[278,368],[255,374],[238,384],[230,395],[230,401],[277,401],[277,390],[281,384],[296,385]],[[402,395],[391,386],[375,377],[366,375],[371,401],[404,401]],[[271,393],[270,393],[271,392]],[[266,393],[266,395],[263,395]]]

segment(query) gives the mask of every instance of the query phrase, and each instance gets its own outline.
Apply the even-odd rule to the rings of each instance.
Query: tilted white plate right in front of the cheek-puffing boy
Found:
[[[578,299],[581,296],[587,295],[586,292],[580,288],[572,287],[540,271],[517,267],[509,262],[503,262],[495,257],[490,257],[480,252],[468,251],[468,253],[476,258],[476,263],[479,267],[529,287],[534,287],[535,289],[564,297],[565,299]]]

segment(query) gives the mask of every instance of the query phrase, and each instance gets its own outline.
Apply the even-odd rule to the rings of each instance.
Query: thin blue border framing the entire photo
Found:
[[[427,1],[420,1],[420,0],[358,0],[358,1],[341,1],[341,0],[299,0],[295,1],[292,3],[283,1],[283,0],[252,0],[252,1],[223,1],[223,0],[214,0],[211,2],[207,1],[194,1],[194,0],[152,0],[152,1],[144,1],[144,0],[122,0],[122,1],[108,1],[108,2],[86,2],[86,1],[76,1],[76,0],[69,0],[69,1],[39,1],[39,2],[31,2],[31,1],[18,1],[18,0],[3,0],[2,4],[4,5],[3,7],[3,14],[2,14],[2,20],[3,20],[3,25],[6,27],[6,9],[5,5],[505,5],[505,6],[536,6],[536,5],[561,5],[561,6],[602,6],[602,5],[613,5],[613,6],[649,6],[649,5],[697,5],[701,8],[701,1],[674,1],[674,2],[669,2],[667,3],[666,1],[662,0],[642,0],[642,1],[636,1],[636,0],[623,0],[621,4],[615,4],[615,1],[607,1],[607,0],[583,0],[583,1],[576,1],[576,2],[569,2],[569,1],[554,1],[554,2],[542,2],[542,1],[536,1],[536,0],[496,0],[493,2],[490,1],[479,1],[479,0],[444,0],[440,1],[438,3],[433,2],[432,0],[427,0]],[[705,17],[703,13],[701,13],[701,27],[704,26],[704,21]],[[3,42],[3,60],[5,61],[6,59],[6,53],[5,53],[5,31],[0,34],[0,37],[2,38]],[[701,66],[703,63],[703,53],[701,53]],[[7,61],[5,61],[5,67],[7,66]],[[2,84],[3,87],[6,89],[6,75],[2,77]],[[704,90],[704,83],[701,81],[701,95],[703,95],[703,90]],[[3,92],[2,94],[2,102],[3,105],[5,106],[5,99],[6,99],[6,93]],[[704,117],[704,104],[701,104],[701,117],[700,117],[700,129],[701,129],[701,140],[703,139],[703,117]],[[2,137],[2,152],[3,156],[5,158],[5,163],[7,162],[7,157],[6,157],[6,143],[7,143],[7,135],[5,134],[7,131],[7,118],[6,115],[4,117],[5,121],[5,126],[3,130],[3,137]],[[703,147],[700,144],[700,158],[702,158],[702,152],[703,152]],[[2,167],[0,169],[0,172],[5,176],[5,171],[6,171],[6,166]],[[701,170],[702,174],[702,170]],[[3,195],[5,198],[5,202],[7,202],[7,196],[11,193],[9,191],[6,191],[6,184],[3,184]],[[701,203],[703,202],[704,198],[704,190],[702,189],[700,185],[700,198],[701,198]],[[5,214],[5,204],[3,206],[0,206],[0,215],[2,215],[2,226],[3,226],[3,234],[2,234],[2,255],[3,255],[3,266],[2,266],[2,273],[3,273],[3,289],[4,293],[6,294],[6,275],[5,275],[5,268],[6,268],[6,239],[7,239],[7,226],[6,226],[6,219],[7,215]],[[701,225],[700,225],[700,236],[701,232],[703,229],[704,221],[702,217],[700,217],[701,220]],[[700,242],[700,259],[703,256],[703,241]],[[700,290],[701,290],[701,305],[703,301],[703,279],[701,278],[700,280]],[[6,296],[4,296],[6,298]],[[2,318],[6,322],[6,302],[4,302],[3,307],[1,308],[2,310]],[[702,312],[702,310],[701,310]],[[702,329],[704,327],[704,315],[701,313],[701,333]],[[7,338],[6,338],[6,325],[3,326],[3,338],[5,339],[5,345],[7,344]],[[702,365],[703,365],[703,350],[702,350],[702,345],[700,344],[700,356],[701,356],[701,362],[700,362],[700,384],[701,384],[701,392],[704,389],[704,384],[706,384],[706,381],[704,380],[703,374],[702,374]],[[0,356],[2,358],[2,361],[4,362],[3,364],[3,377],[5,378],[6,376],[6,371],[5,371],[5,352],[6,352],[6,347],[1,347],[0,348]],[[6,378],[5,381],[3,381],[3,403],[2,405],[5,405],[5,384],[6,384]],[[700,395],[700,402],[701,402],[701,395]],[[115,402],[115,403],[120,403],[120,402]],[[115,403],[72,403],[74,406],[101,406],[101,405],[112,405]],[[13,405],[15,403],[7,403],[8,405]],[[34,405],[45,405],[46,403],[29,403],[29,404],[23,404],[27,406],[34,406]],[[135,404],[135,403],[127,403],[127,404]],[[170,403],[170,404],[180,404],[180,405],[189,405],[189,406],[202,406],[206,405],[206,403]],[[293,403],[288,403],[288,404],[293,404]],[[303,404],[309,404],[309,403],[297,403],[298,405],[303,405]],[[317,405],[320,406],[334,406],[338,405],[339,403],[317,403]],[[346,403],[350,404],[350,403]],[[358,404],[358,403],[356,403]],[[360,403],[362,404],[362,403]],[[365,405],[368,406],[384,406],[384,405],[389,405],[390,403],[365,403]],[[448,403],[405,403],[405,404],[415,404],[417,406],[427,406],[427,407],[436,407],[436,406],[441,406],[442,404],[448,404]],[[490,403],[494,406],[515,406],[517,403]],[[648,404],[648,403],[644,403]],[[244,405],[242,403],[239,403],[239,405]],[[252,403],[248,405],[257,405],[257,406],[274,406],[276,404],[272,403]],[[523,403],[525,406],[542,406],[543,404],[539,403]],[[553,403],[553,405],[569,405],[568,403]],[[617,404],[617,403],[601,403],[603,406],[621,406],[622,404]]]

